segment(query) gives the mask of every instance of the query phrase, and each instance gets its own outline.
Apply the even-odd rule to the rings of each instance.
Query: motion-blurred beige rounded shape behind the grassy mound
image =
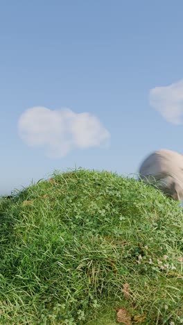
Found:
[[[171,150],[150,154],[139,169],[139,178],[157,186],[175,201],[183,200],[183,156]]]

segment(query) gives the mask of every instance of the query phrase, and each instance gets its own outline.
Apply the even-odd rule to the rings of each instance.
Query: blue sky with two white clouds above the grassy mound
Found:
[[[180,0],[2,0],[0,194],[55,169],[127,175],[151,151],[182,153],[182,12]]]

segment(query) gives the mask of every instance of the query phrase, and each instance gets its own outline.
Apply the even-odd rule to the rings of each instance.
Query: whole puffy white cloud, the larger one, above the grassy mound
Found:
[[[62,158],[76,148],[99,147],[110,139],[97,117],[70,109],[29,108],[21,114],[18,130],[26,144],[44,149],[50,158]]]

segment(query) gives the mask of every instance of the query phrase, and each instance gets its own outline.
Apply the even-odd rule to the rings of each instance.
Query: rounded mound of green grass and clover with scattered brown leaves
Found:
[[[182,209],[142,182],[55,173],[1,198],[0,242],[0,324],[183,323]]]

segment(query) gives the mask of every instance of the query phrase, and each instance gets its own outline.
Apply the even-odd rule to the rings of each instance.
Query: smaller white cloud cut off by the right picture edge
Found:
[[[183,124],[183,80],[150,90],[150,105],[167,122]]]

